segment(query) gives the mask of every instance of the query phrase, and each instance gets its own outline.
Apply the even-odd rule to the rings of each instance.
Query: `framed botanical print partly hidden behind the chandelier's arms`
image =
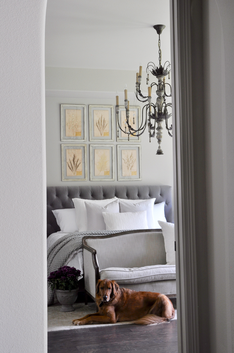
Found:
[[[118,131],[118,120],[116,119],[116,121],[117,121],[117,131]],[[141,107],[129,107],[129,122],[131,127],[133,127],[135,130],[139,128],[139,126],[141,125]],[[126,123],[126,109],[124,106],[119,107],[119,125],[121,126],[123,131],[125,131],[125,126],[128,129],[128,126]],[[119,137],[117,135],[117,142],[128,141],[128,134],[127,133],[125,134],[123,131],[121,131],[119,128]],[[129,141],[141,142],[141,136],[129,135]]]

